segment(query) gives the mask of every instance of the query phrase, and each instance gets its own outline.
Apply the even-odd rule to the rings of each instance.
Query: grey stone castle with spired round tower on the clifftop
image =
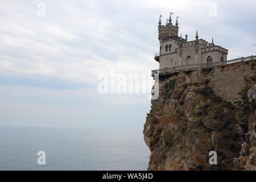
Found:
[[[178,17],[175,26],[170,18],[166,25],[161,23],[161,15],[158,23],[158,39],[160,42],[159,53],[155,55],[155,60],[159,62],[159,69],[175,68],[183,65],[217,63],[227,61],[228,50],[221,46],[215,46],[214,40],[211,43],[199,39],[198,31],[195,40],[188,42],[178,36]]]

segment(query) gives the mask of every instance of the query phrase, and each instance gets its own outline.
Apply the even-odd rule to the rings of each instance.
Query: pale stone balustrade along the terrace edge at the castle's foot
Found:
[[[156,54],[157,55],[157,54]],[[241,61],[249,61],[249,60],[256,60],[256,56],[248,56],[248,57],[239,57],[238,59],[233,59],[229,61],[218,61],[214,63],[205,63],[205,64],[189,64],[189,65],[181,65],[173,68],[164,68],[164,69],[156,69],[152,71],[152,75],[155,73],[177,73],[177,72],[186,72],[186,71],[195,71],[202,68],[209,68],[217,65],[225,65],[225,64],[232,64],[238,63]]]

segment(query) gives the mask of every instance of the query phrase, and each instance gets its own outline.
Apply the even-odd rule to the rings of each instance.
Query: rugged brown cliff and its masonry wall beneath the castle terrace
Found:
[[[148,169],[256,169],[255,71],[247,61],[161,77],[143,130]]]

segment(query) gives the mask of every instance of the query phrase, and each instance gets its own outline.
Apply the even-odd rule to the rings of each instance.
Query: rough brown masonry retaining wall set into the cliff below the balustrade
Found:
[[[202,82],[210,80],[209,85],[214,92],[223,100],[234,102],[240,97],[238,92],[247,85],[246,78],[255,73],[252,63],[255,61],[243,61],[239,63],[227,64],[225,66],[213,67],[212,70],[186,72],[191,82]]]

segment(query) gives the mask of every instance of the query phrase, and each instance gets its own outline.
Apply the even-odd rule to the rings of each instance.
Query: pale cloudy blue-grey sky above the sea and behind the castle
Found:
[[[194,40],[198,30],[199,39],[229,49],[228,60],[256,55],[255,6],[249,0],[1,0],[0,126],[142,131],[149,93],[99,93],[101,76],[158,69],[159,15],[165,24],[170,12],[174,23],[179,16],[183,38]]]

